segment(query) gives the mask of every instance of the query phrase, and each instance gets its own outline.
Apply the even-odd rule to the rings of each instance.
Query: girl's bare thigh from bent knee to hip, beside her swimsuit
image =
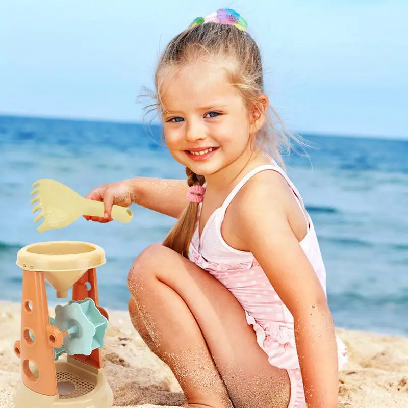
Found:
[[[215,277],[160,244],[146,248],[129,273],[129,287],[155,276],[176,291],[196,319],[236,408],[286,408],[286,370],[272,366],[234,295]],[[136,284],[139,282],[139,285]]]

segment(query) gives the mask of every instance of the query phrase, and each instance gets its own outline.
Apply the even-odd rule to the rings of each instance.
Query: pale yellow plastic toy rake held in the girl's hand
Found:
[[[52,179],[40,179],[33,184],[31,195],[37,194],[31,203],[36,203],[32,212],[40,213],[34,218],[44,222],[37,227],[43,233],[47,230],[58,230],[77,220],[82,215],[104,216],[104,203],[82,197],[62,183]],[[112,218],[120,222],[130,222],[132,211],[121,206],[112,207]]]

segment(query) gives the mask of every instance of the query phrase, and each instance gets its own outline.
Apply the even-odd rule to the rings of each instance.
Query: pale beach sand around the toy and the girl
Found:
[[[127,312],[108,313],[103,360],[115,407],[181,406],[185,399],[174,375],[144,344]],[[13,344],[19,330],[20,304],[0,302],[1,408],[14,407],[20,361]],[[408,339],[340,328],[337,333],[350,354],[340,373],[339,408],[408,407]]]

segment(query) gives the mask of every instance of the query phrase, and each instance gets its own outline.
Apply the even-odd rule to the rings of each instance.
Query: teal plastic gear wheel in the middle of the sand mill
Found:
[[[63,306],[57,305],[53,325],[61,331],[68,331],[62,345],[68,355],[90,355],[92,350],[103,347],[108,319],[87,297],[84,300],[71,300]],[[64,352],[62,348],[55,352],[61,354]]]

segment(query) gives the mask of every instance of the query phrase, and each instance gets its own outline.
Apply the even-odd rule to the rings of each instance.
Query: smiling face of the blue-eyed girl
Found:
[[[175,160],[204,176],[248,160],[249,115],[219,64],[196,61],[167,72],[161,91],[165,141]]]

